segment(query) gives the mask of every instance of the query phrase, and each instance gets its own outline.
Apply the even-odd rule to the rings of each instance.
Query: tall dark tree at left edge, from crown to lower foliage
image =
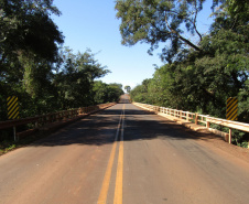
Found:
[[[55,95],[51,77],[64,37],[51,14],[59,15],[53,0],[0,0],[0,104],[15,95],[23,108],[35,104],[34,112],[54,105],[44,101]]]

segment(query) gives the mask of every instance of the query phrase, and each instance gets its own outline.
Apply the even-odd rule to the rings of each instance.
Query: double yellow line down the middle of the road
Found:
[[[111,170],[115,161],[115,153],[117,148],[117,141],[119,132],[120,135],[120,142],[119,142],[119,155],[118,155],[118,168],[117,168],[117,175],[116,175],[116,186],[115,186],[115,197],[113,204],[122,204],[122,175],[123,175],[123,124],[124,124],[124,105],[122,106],[122,111],[119,118],[118,128],[116,131],[115,143],[112,146],[110,158],[108,161],[106,174],[104,178],[102,186],[100,190],[100,194],[98,197],[98,204],[106,204],[107,202],[107,194],[110,184],[111,178]]]

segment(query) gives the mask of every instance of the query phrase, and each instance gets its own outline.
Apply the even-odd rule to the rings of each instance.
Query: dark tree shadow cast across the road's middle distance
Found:
[[[102,112],[89,116],[29,146],[102,146],[112,143],[122,111],[121,108],[106,109]],[[155,138],[171,140],[205,139],[203,135],[197,135],[154,112],[132,108],[126,109],[124,141],[152,140]]]

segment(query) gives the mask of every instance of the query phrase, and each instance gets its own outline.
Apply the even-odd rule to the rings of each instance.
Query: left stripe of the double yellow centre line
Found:
[[[121,126],[121,121],[122,121],[123,112],[124,112],[123,108],[124,108],[124,105],[122,107],[122,112],[119,118],[119,124],[118,124],[118,128],[116,131],[115,142],[113,142],[113,146],[112,146],[112,149],[110,152],[110,158],[108,161],[107,170],[106,170],[105,178],[102,181],[102,186],[101,186],[100,194],[98,197],[98,204],[106,204],[106,202],[107,202],[107,194],[108,194],[108,190],[109,190],[109,185],[110,185],[110,176],[111,176],[111,170],[112,170],[112,165],[113,165],[113,161],[115,161],[117,140],[118,140],[118,135],[119,135],[119,130],[120,130],[120,126]]]

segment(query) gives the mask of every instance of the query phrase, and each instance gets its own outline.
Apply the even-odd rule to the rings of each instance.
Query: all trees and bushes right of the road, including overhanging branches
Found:
[[[204,35],[196,23],[203,2],[117,1],[123,44],[150,43],[151,52],[166,42],[161,57],[167,63],[134,87],[131,98],[226,118],[227,98],[237,97],[239,121],[249,122],[249,3],[214,0],[214,23]],[[246,137],[239,133],[235,142]]]

